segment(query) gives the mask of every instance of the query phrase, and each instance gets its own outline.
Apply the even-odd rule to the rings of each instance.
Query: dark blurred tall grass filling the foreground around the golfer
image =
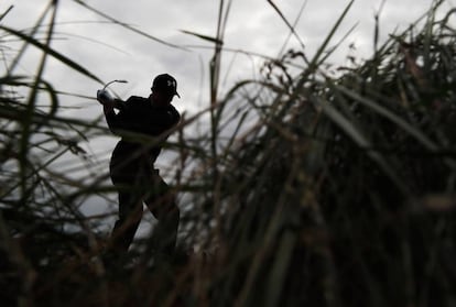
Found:
[[[36,26],[45,15],[53,20],[56,3]],[[87,183],[53,167],[67,153],[84,165],[78,143],[107,131],[98,120],[62,118],[59,92],[41,72],[53,56],[98,78],[52,50],[52,25],[42,43],[33,31],[0,24],[23,48],[43,53],[34,77],[11,67],[0,83],[1,303],[452,306],[454,11],[436,19],[435,2],[424,20],[377,45],[371,59],[332,74],[324,68],[328,45],[351,3],[313,57],[290,51],[225,97],[217,86],[230,1],[220,1],[214,37],[187,31],[215,44],[208,107],[167,144],[177,154],[175,188],[185,195],[181,245],[197,249],[109,272],[98,260],[102,219],[79,210],[87,197],[112,193],[106,176]],[[20,86],[30,89],[25,99]],[[188,136],[207,112],[210,130]]]

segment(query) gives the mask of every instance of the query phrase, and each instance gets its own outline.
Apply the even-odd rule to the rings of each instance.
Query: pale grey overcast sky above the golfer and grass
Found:
[[[11,4],[12,11],[3,24],[15,29],[28,29],[34,24],[50,0],[2,0],[0,12]],[[120,25],[102,23],[107,20],[87,10],[73,0],[61,0],[58,24],[53,47],[93,70],[102,80],[122,78],[128,85],[116,85],[115,89],[124,96],[148,96],[154,75],[167,72],[178,81],[182,99],[176,101],[180,110],[196,110],[207,103],[208,62],[210,50],[189,46],[210,46],[210,43],[184,34],[181,30],[215,36],[219,1],[216,0],[134,0],[85,2],[104,13],[131,24],[140,31],[171,44],[187,47],[187,51],[170,47],[128,31]],[[228,2],[228,1],[225,1]],[[296,32],[305,44],[308,56],[322,43],[335,20],[340,15],[347,0],[275,0],[274,3],[285,18],[294,23],[301,8],[304,10],[297,21]],[[446,7],[454,7],[448,0]],[[381,0],[356,0],[337,39],[357,25],[346,44],[332,58],[344,61],[347,45],[354,43],[357,55],[366,57],[372,50],[374,14]],[[423,14],[432,0],[387,0],[380,14],[381,37],[403,29]],[[267,0],[234,0],[229,12],[225,47],[243,50],[275,57],[283,48],[289,29]],[[287,47],[298,47],[292,39]],[[13,53],[11,53],[12,55]],[[33,74],[35,65],[23,63],[17,72]],[[225,53],[222,77],[225,88],[234,81],[258,73],[262,58],[236,53]],[[232,63],[232,65],[230,65]],[[228,67],[230,67],[228,69]],[[22,72],[20,72],[22,70]],[[69,72],[64,65],[51,62],[46,76],[57,88],[84,95],[93,95],[99,85]]]

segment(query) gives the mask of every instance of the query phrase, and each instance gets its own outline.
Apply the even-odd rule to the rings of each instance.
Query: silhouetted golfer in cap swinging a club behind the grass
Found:
[[[154,163],[161,143],[181,119],[171,105],[174,96],[180,97],[177,83],[162,74],[154,78],[151,89],[148,98],[132,96],[127,101],[111,98],[106,86],[97,91],[110,131],[121,136],[109,165],[119,194],[119,218],[108,248],[115,254],[128,251],[141,221],[143,202],[158,219],[151,242],[153,249],[170,254],[176,243],[180,210]]]

